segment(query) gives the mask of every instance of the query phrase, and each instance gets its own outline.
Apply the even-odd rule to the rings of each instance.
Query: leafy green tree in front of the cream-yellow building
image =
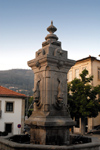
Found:
[[[72,117],[81,118],[81,133],[85,133],[85,118],[96,117],[100,111],[99,99],[100,85],[93,87],[91,81],[93,76],[89,76],[85,69],[80,74],[80,79],[75,78],[68,84],[68,103]]]

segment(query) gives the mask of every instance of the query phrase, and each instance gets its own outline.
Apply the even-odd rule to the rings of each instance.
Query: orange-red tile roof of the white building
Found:
[[[20,97],[20,98],[25,98],[27,97],[25,94],[17,93],[12,90],[9,90],[5,87],[0,86],[0,96],[1,97]]]

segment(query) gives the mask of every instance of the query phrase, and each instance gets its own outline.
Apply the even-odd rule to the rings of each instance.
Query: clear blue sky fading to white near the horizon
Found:
[[[0,70],[31,69],[51,20],[69,59],[100,59],[100,0],[0,0]]]

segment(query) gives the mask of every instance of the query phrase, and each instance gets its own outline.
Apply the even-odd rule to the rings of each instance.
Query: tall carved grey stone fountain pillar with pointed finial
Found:
[[[34,71],[34,110],[25,123],[30,126],[31,143],[67,145],[69,128],[75,124],[67,105],[67,72],[75,61],[62,50],[53,22],[47,30],[50,34],[42,48],[28,62]]]

